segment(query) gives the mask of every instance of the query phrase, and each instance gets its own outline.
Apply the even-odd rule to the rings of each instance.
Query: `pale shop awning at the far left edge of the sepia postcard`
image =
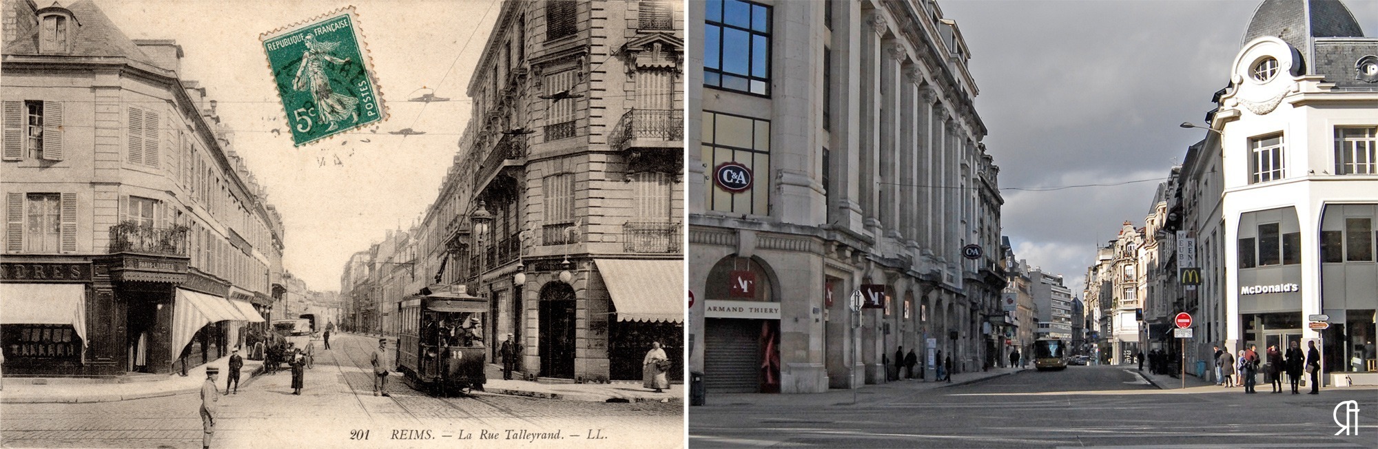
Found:
[[[70,324],[85,337],[84,284],[0,284],[0,324]]]

